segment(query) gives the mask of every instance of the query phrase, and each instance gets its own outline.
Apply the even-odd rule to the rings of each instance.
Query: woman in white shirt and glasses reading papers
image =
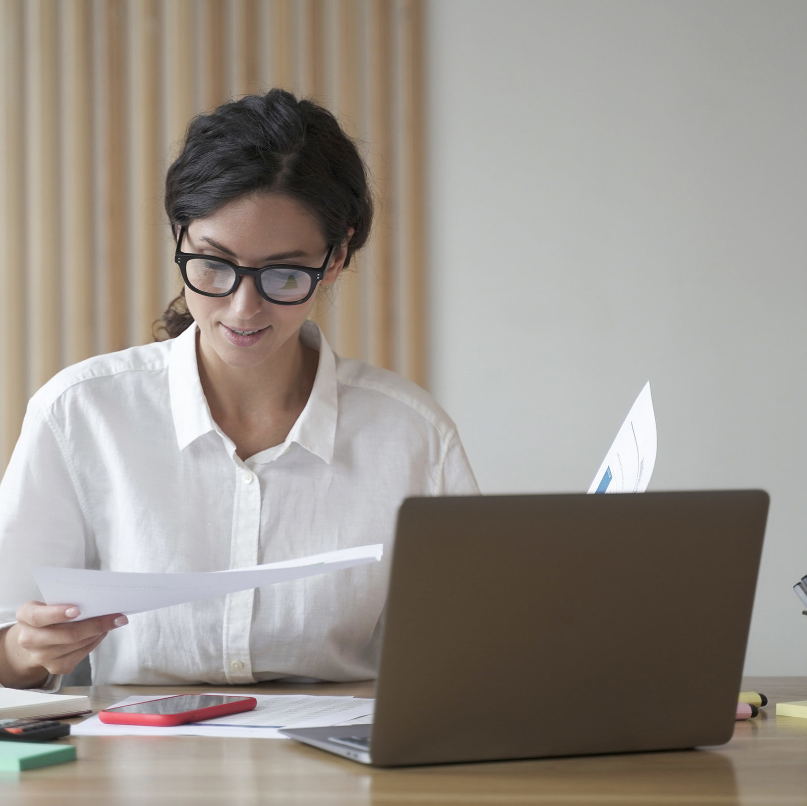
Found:
[[[128,620],[36,601],[38,564],[202,571],[389,547],[403,498],[477,491],[433,399],[336,357],[307,321],[372,218],[328,111],[271,90],[194,119],[165,209],[187,306],[166,311],[174,338],[52,378],[0,485],[0,684],[52,690],[90,652],[94,683],[371,678],[389,552]]]

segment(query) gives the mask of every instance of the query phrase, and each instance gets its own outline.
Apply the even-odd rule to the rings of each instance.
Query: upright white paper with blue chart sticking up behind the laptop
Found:
[[[655,415],[648,381],[628,412],[588,491],[646,491],[650,476],[653,475],[655,453]]]

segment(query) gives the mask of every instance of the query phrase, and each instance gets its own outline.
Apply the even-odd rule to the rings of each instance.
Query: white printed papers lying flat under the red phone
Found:
[[[217,692],[232,696],[232,691]],[[358,725],[373,720],[375,700],[359,697],[326,697],[298,694],[252,694],[257,706],[203,722],[190,722],[174,728],[145,725],[104,725],[98,715],[73,725],[73,736],[232,736],[250,739],[285,739],[281,728],[326,728],[332,725]],[[161,697],[132,696],[115,705],[133,705]]]

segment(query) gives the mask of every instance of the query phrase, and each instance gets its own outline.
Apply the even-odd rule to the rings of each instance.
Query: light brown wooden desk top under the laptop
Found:
[[[807,699],[807,678],[750,678],[743,687],[763,691],[771,704],[755,720],[738,722],[734,738],[713,750],[374,770],[294,741],[75,737],[77,762],[0,777],[0,804],[807,804],[807,720],[777,718],[773,707]],[[102,708],[165,691],[90,693]],[[372,685],[233,691],[368,696]]]

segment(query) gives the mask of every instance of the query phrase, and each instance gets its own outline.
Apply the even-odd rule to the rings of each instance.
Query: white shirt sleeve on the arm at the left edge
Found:
[[[41,598],[32,566],[86,567],[86,524],[64,436],[34,398],[0,482],[0,624]]]

